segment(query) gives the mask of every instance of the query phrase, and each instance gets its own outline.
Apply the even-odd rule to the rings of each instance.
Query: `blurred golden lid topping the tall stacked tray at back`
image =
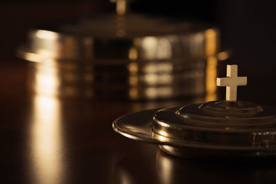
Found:
[[[18,54],[29,61],[99,63],[103,59],[113,59],[113,63],[197,59],[217,54],[218,39],[218,30],[203,23],[103,14],[55,28],[33,29]]]

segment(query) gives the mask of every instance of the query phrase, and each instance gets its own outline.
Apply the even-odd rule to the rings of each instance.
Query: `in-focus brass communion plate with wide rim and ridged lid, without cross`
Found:
[[[276,156],[276,109],[246,101],[210,101],[121,116],[113,129],[184,157]]]

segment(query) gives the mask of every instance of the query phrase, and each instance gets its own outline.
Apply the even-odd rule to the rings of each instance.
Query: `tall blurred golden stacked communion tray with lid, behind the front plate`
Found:
[[[35,93],[173,99],[215,94],[218,43],[204,23],[103,14],[34,28],[18,55]]]

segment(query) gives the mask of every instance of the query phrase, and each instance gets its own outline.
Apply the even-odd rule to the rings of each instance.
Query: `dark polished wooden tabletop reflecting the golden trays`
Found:
[[[275,183],[266,161],[192,161],[132,141],[118,116],[185,102],[57,99],[28,94],[26,63],[0,68],[1,183]],[[8,77],[7,77],[8,76]],[[186,102],[187,103],[187,102]]]

